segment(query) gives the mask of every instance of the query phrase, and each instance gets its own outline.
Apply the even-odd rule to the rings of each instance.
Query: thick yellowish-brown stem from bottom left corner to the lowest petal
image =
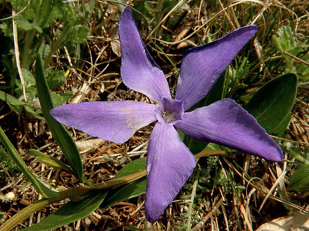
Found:
[[[56,203],[58,201],[62,201],[68,198],[72,198],[72,196],[82,196],[85,194],[90,194],[94,192],[99,192],[104,189],[109,189],[109,188],[115,188],[124,184],[128,184],[130,182],[133,182],[137,179],[140,179],[144,176],[146,176],[146,170],[139,171],[137,173],[124,176],[115,180],[109,180],[107,182],[99,183],[99,184],[94,184],[92,187],[89,186],[79,186],[71,189],[67,189],[64,191],[61,191],[59,194],[59,197],[55,198],[45,198],[41,199],[39,201],[36,201],[30,205],[28,205],[26,208],[23,210],[19,211],[16,213],[13,217],[11,217],[9,220],[7,220],[1,227],[0,231],[11,231],[15,226],[20,224],[21,221],[29,217],[31,214],[35,213],[36,211],[51,205],[53,203]]]

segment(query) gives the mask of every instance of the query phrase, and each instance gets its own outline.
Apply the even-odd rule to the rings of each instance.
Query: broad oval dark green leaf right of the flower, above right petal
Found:
[[[253,95],[245,109],[268,133],[280,133],[280,125],[288,120],[287,116],[294,105],[297,83],[295,74],[274,78]]]

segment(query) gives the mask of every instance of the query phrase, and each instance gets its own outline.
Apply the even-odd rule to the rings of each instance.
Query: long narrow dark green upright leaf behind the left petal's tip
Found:
[[[37,95],[42,108],[42,113],[53,137],[55,138],[55,141],[59,145],[64,157],[68,161],[75,175],[82,182],[87,182],[87,180],[83,176],[82,158],[74,140],[72,139],[68,131],[64,128],[64,126],[58,123],[49,113],[49,111],[53,108],[53,104],[49,88],[44,77],[42,59],[40,55],[38,55],[36,59],[35,81],[37,87]]]

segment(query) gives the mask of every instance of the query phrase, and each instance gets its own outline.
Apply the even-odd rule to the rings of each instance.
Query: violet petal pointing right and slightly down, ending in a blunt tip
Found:
[[[175,125],[196,140],[223,145],[271,161],[281,161],[279,145],[256,119],[232,99],[184,113]]]

